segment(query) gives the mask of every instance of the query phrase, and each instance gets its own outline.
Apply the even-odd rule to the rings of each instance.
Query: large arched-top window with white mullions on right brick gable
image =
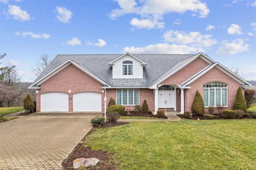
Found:
[[[227,106],[228,85],[222,82],[210,82],[203,85],[204,106]]]

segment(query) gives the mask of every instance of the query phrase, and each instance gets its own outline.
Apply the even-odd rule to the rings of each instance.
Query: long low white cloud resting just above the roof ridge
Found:
[[[202,49],[189,47],[187,45],[158,43],[155,45],[148,45],[146,47],[125,47],[122,50],[122,53],[127,51],[134,54],[188,54],[198,53],[202,51]]]

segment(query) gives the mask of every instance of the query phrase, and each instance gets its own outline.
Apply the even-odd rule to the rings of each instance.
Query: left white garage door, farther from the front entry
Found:
[[[43,93],[41,94],[41,112],[68,112],[68,94]]]

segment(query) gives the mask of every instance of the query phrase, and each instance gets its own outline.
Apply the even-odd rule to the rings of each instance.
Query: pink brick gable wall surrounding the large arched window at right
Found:
[[[212,81],[220,81],[222,83],[226,83],[228,85],[228,107],[227,109],[232,109],[234,101],[236,99],[236,91],[238,87],[241,86],[240,83],[223,73],[218,68],[214,67],[202,77],[198,78],[196,81],[190,84],[191,89],[185,89],[185,111],[190,111],[192,107],[192,103],[194,101],[194,97],[196,95],[196,91],[198,90],[201,96],[203,97],[203,85]],[[242,89],[244,93],[244,89]],[[206,113],[208,113],[208,108],[206,109]],[[216,111],[217,113],[217,111]]]

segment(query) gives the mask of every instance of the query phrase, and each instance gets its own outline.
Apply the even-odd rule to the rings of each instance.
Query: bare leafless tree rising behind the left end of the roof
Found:
[[[36,63],[36,67],[32,67],[31,71],[39,76],[42,71],[49,65],[49,63],[52,61],[51,56],[49,54],[42,54],[39,57],[38,63]]]

